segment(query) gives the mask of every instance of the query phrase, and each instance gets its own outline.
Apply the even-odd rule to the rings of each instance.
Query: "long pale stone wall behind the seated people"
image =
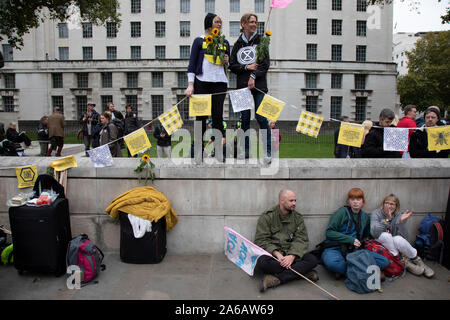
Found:
[[[41,174],[52,160],[0,158],[0,224],[9,227],[6,200],[30,190],[17,188],[14,167],[36,164]],[[443,217],[449,197],[448,159],[275,159],[271,167],[233,159],[193,166],[183,160],[187,163],[154,159],[157,179],[148,183],[167,196],[178,215],[178,224],[167,234],[168,250],[175,254],[220,252],[224,226],[253,240],[258,216],[277,204],[282,188],[297,194],[296,209],[305,218],[311,249],[324,239],[330,215],[352,187],[363,189],[367,212],[389,193],[400,198],[403,209],[413,209],[410,241],[425,214]],[[118,250],[120,240],[120,226],[105,208],[123,192],[144,185],[133,172],[138,159],[114,162],[114,167],[94,168],[89,158],[78,158],[66,189],[72,234],[88,234],[105,251]]]

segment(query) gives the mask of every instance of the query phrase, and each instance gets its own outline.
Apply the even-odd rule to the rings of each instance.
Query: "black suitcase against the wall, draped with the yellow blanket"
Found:
[[[155,264],[166,255],[166,218],[152,222],[152,231],[142,238],[135,238],[128,214],[119,213],[120,260],[125,263]]]

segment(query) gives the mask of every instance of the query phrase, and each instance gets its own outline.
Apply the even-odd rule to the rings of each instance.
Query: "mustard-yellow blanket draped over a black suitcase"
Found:
[[[154,222],[165,216],[166,231],[178,222],[169,199],[153,187],[137,187],[122,193],[111,201],[105,211],[114,219],[118,218],[119,211]]]

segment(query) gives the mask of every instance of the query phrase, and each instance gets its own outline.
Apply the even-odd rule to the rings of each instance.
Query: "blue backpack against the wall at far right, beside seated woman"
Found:
[[[416,236],[413,246],[421,258],[442,263],[444,252],[442,219],[427,214],[419,225],[419,234]]]

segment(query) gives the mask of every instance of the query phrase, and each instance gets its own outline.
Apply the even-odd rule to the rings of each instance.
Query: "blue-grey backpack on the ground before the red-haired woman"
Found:
[[[369,277],[373,273],[368,270],[369,266],[376,266],[374,257],[367,250],[356,250],[347,254],[347,279],[345,286],[357,293],[369,293],[376,289],[369,288]]]

